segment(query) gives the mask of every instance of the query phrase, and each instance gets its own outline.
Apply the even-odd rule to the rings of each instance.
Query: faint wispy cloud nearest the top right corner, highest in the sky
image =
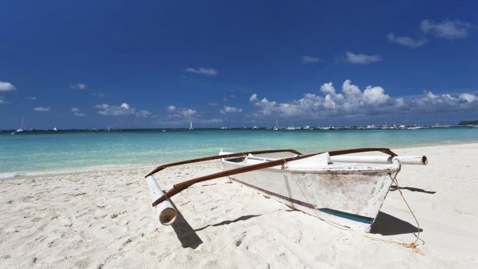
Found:
[[[431,33],[444,39],[463,39],[474,27],[472,24],[459,20],[434,22],[426,19],[420,23],[420,28],[424,33]]]

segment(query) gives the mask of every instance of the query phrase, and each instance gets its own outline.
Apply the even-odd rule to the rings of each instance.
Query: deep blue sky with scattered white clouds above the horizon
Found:
[[[1,1],[0,128],[478,119],[478,1]]]

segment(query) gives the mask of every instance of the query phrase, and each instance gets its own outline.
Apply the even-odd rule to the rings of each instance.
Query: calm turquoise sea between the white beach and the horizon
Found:
[[[478,141],[478,128],[419,130],[168,130],[0,133],[0,178],[36,173],[86,171],[117,166],[158,166],[225,151],[437,145]]]

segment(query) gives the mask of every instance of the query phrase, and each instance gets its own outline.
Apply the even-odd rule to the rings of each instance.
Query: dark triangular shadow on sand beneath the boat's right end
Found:
[[[378,212],[375,223],[372,225],[370,233],[380,233],[381,235],[400,235],[403,233],[417,233],[418,228],[407,221],[395,218],[392,215]],[[420,232],[423,230],[420,228]]]

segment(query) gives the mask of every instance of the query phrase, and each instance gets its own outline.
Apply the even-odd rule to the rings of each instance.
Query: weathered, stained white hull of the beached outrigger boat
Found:
[[[244,166],[222,163],[225,170]],[[397,170],[398,166],[313,172],[267,168],[230,179],[307,214],[369,232],[392,184],[389,173]]]

